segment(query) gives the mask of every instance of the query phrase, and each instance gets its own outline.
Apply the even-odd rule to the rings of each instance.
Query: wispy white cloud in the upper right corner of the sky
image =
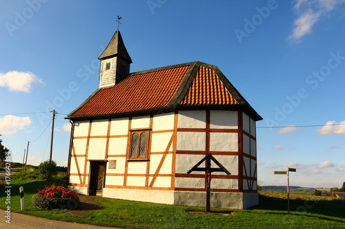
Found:
[[[313,26],[322,15],[331,12],[345,0],[296,0],[294,1],[297,19],[293,23],[293,32],[288,39],[297,43],[301,42],[304,35],[310,34]]]

